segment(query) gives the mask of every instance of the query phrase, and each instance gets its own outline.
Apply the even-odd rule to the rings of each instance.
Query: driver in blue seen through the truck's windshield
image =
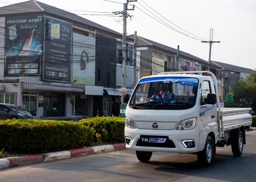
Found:
[[[175,101],[174,94],[169,91],[168,86],[166,84],[162,84],[161,91],[159,93],[153,94],[153,96],[151,96],[151,98],[153,100],[155,100],[156,102],[164,101],[164,102],[171,103],[171,102]]]

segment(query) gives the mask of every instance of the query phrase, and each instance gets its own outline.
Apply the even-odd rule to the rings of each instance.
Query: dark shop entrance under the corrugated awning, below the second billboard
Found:
[[[58,117],[65,115],[65,94],[44,92],[44,116]]]

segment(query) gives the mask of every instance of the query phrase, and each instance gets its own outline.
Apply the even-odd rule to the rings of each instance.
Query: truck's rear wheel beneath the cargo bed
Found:
[[[234,156],[239,157],[243,153],[243,139],[243,132],[239,130],[231,143],[231,149]]]

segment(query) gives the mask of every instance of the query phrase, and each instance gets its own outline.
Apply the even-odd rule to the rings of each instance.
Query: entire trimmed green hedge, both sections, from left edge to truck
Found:
[[[66,120],[0,120],[0,150],[48,153],[102,143],[124,142],[125,120],[119,117]]]

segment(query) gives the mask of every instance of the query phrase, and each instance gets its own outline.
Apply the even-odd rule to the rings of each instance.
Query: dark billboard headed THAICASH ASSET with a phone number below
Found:
[[[43,16],[5,19],[5,76],[38,75],[43,52]]]

